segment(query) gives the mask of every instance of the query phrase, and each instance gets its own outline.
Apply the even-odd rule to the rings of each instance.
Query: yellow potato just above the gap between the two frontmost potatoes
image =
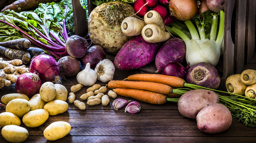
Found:
[[[30,128],[42,125],[49,117],[49,113],[45,109],[36,109],[29,111],[22,118],[23,123]]]

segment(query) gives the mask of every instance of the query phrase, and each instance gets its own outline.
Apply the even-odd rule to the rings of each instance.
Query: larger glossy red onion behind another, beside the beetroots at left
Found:
[[[43,54],[34,57],[29,70],[38,74],[43,82],[59,82],[59,66],[57,61],[50,55]]]

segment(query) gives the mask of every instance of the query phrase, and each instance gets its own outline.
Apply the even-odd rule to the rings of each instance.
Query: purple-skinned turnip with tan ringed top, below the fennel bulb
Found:
[[[220,86],[221,78],[216,68],[206,62],[200,62],[187,71],[187,83],[217,89]]]

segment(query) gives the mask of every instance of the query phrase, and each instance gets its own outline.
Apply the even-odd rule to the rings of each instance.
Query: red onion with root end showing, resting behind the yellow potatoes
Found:
[[[21,74],[15,82],[15,89],[17,93],[27,95],[29,99],[39,93],[41,86],[42,81],[39,76],[31,72]]]

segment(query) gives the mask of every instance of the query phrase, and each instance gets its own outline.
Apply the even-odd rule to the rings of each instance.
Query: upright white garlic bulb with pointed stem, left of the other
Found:
[[[90,63],[87,63],[84,70],[76,75],[76,80],[84,86],[92,86],[97,80],[97,74],[91,69]]]

